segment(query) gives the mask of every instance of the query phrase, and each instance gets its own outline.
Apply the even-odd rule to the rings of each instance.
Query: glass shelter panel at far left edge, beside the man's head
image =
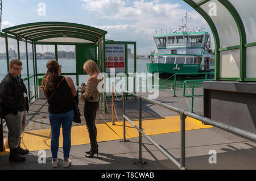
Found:
[[[6,46],[5,38],[0,37],[0,82],[7,74],[7,61],[6,61]]]

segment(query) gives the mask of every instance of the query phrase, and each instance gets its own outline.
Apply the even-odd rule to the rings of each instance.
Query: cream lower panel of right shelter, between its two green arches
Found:
[[[240,77],[240,49],[220,52],[220,77]]]

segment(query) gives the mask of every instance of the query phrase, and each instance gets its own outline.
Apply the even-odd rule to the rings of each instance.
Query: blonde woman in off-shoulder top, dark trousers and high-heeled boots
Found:
[[[86,121],[86,127],[89,132],[90,138],[90,151],[86,151],[85,157],[93,158],[93,155],[97,153],[98,157],[98,144],[97,144],[97,129],[95,125],[96,112],[99,108],[99,95],[98,83],[102,79],[98,79],[98,74],[100,70],[95,61],[88,60],[84,64],[84,70],[90,75],[87,83],[86,89],[81,90],[81,99],[84,100],[84,116]]]

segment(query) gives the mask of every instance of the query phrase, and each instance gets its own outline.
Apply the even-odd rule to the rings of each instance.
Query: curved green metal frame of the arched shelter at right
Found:
[[[214,36],[214,42],[215,42],[215,51],[216,51],[216,65],[215,65],[215,80],[220,80],[220,81],[256,81],[256,74],[253,74],[253,78],[247,78],[246,77],[246,72],[248,71],[246,69],[246,64],[247,64],[247,48],[248,47],[255,47],[256,46],[256,42],[253,43],[247,43],[247,39],[246,39],[246,26],[245,26],[245,22],[243,22],[241,15],[238,14],[238,9],[235,8],[235,3],[233,0],[203,0],[203,1],[199,1],[199,0],[183,0],[184,2],[188,3],[188,5],[190,5],[191,7],[193,7],[193,9],[195,9],[197,12],[199,12],[199,14],[201,16],[203,16],[203,18],[207,21],[207,23],[209,24],[210,29],[212,30],[213,36]],[[236,23],[237,26],[237,30],[239,33],[239,38],[240,38],[240,44],[238,45],[233,45],[232,47],[220,47],[220,35],[218,34],[218,29],[216,27],[216,24],[214,24],[213,19],[211,18],[211,16],[205,11],[203,10],[202,6],[206,5],[210,2],[213,3],[221,3],[222,6],[225,7],[226,10],[228,10],[228,12],[230,13],[230,15],[232,16],[232,18],[234,19],[234,22]],[[250,3],[250,2],[244,2],[244,3]],[[253,7],[253,5],[251,5]],[[238,7],[237,7],[238,8]],[[241,10],[241,9],[240,9]],[[250,11],[250,10],[248,10]],[[251,11],[253,12],[253,11]],[[218,12],[218,16],[220,16],[220,18],[225,18],[225,17],[221,17],[221,12]],[[240,11],[241,13],[241,11]],[[253,15],[252,15],[253,16]],[[230,37],[230,39],[232,39],[232,37]],[[239,77],[232,77],[232,78],[228,78],[228,77],[221,77],[220,75],[220,54],[221,52],[224,52],[226,50],[235,50],[235,49],[240,49],[240,76]]]

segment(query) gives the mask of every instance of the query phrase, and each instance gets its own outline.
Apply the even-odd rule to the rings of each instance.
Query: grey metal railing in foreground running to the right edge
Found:
[[[167,104],[163,104],[161,102],[158,102],[156,100],[152,100],[152,99],[148,99],[144,96],[138,95],[138,94],[134,94],[131,92],[127,92],[127,94],[131,94],[135,97],[138,98],[139,100],[139,127],[137,127],[137,125],[135,125],[130,119],[129,117],[127,117],[125,115],[125,92],[123,92],[123,142],[126,142],[126,134],[125,134],[125,121],[129,121],[129,123],[131,123],[139,132],[139,164],[143,163],[142,161],[142,134],[143,136],[150,141],[159,151],[161,151],[172,163],[174,163],[179,169],[181,170],[185,170],[185,119],[187,116],[192,117],[193,119],[196,120],[200,120],[203,123],[209,124],[209,125],[213,125],[214,127],[223,129],[224,131],[228,131],[230,133],[234,133],[238,136],[242,136],[244,138],[247,138],[249,140],[252,141],[256,141],[256,134],[251,133],[251,132],[247,132],[243,129],[240,128],[236,128],[236,127],[232,127],[231,125],[225,124],[225,123],[220,123],[218,121],[214,121],[212,119],[209,119],[207,117],[204,116],[200,116],[200,115],[196,115],[195,113],[189,112],[189,111],[185,111],[182,110],[180,108],[176,108],[173,106],[169,106]],[[180,162],[178,162],[176,160],[176,158],[174,158],[171,154],[167,153],[167,151],[165,151],[163,148],[161,148],[158,144],[156,144],[156,142],[154,140],[152,140],[150,137],[147,136],[146,133],[144,133],[142,131],[142,106],[141,106],[141,102],[142,100],[146,100],[147,102],[153,103],[153,104],[157,104],[159,106],[162,106],[164,108],[167,108],[168,110],[171,111],[175,111],[177,113],[179,113],[180,115],[180,142],[181,142],[181,150],[180,150]]]

